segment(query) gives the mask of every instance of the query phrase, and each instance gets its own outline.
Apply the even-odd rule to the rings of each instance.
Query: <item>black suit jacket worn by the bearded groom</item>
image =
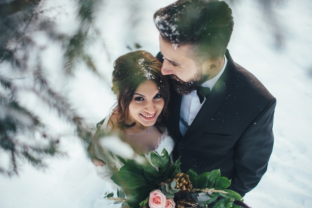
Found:
[[[220,169],[232,179],[230,189],[244,196],[267,170],[276,99],[228,51],[226,57],[225,71],[184,137],[179,131],[181,96],[171,90],[167,129],[176,143],[174,159],[181,156],[182,172]]]

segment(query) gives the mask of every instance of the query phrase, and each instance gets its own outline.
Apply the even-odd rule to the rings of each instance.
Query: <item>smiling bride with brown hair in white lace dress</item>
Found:
[[[169,84],[160,68],[156,57],[144,50],[129,52],[115,61],[112,90],[117,104],[98,124],[88,147],[100,177],[109,179],[123,166],[116,155],[127,150],[124,146],[148,159],[151,151],[160,155],[165,148],[172,152],[174,142],[164,124]],[[116,143],[118,140],[122,142]]]

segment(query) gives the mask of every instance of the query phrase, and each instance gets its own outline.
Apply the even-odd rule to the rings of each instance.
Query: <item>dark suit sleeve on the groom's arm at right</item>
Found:
[[[267,171],[274,142],[272,127],[275,106],[276,99],[273,98],[249,125],[235,147],[235,171],[230,189],[242,196],[256,187]]]

